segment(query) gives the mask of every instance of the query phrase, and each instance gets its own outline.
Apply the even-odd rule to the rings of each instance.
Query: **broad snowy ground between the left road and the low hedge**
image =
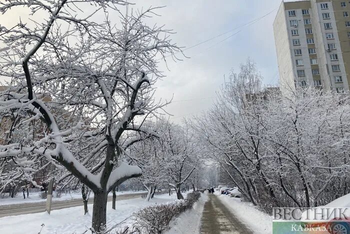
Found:
[[[107,223],[113,225],[128,218],[133,212],[147,205],[165,203],[176,199],[176,194],[171,196],[168,194],[158,195],[149,202],[142,198],[134,198],[127,200],[119,200],[115,202],[116,209],[111,208],[111,202],[107,203]],[[88,209],[92,212],[92,204],[88,205]],[[7,216],[0,218],[0,233],[23,234],[38,233],[41,224],[44,224],[41,230],[43,233],[82,233],[86,227],[91,226],[91,216],[83,214],[83,207],[76,206],[59,210],[52,210],[48,215],[46,212],[23,214],[16,216]]]

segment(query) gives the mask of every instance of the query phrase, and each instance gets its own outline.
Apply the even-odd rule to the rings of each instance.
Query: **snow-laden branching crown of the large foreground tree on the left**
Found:
[[[9,126],[1,158],[22,167],[18,159],[28,155],[36,156],[23,160],[26,167],[40,157],[59,162],[95,193],[141,174],[117,160],[127,144],[152,135],[142,120],[163,106],[153,99],[162,76],[157,61],[180,49],[163,26],[143,23],[156,8],[138,12],[123,5],[0,1],[2,14],[19,7],[30,13],[26,21],[0,26],[0,76],[10,80],[0,94],[1,121]],[[20,137],[28,131],[30,137]],[[76,145],[92,150],[82,155]]]

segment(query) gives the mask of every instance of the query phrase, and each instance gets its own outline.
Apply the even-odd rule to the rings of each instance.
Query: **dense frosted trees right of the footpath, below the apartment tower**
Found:
[[[322,205],[350,192],[347,95],[300,89],[282,97],[278,89],[261,89],[248,61],[191,125],[206,155],[268,213],[272,206]]]

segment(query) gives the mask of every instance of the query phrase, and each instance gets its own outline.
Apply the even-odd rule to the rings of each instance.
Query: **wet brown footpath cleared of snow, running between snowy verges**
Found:
[[[250,234],[253,232],[241,223],[216,195],[210,194],[209,200],[204,204],[200,233]]]

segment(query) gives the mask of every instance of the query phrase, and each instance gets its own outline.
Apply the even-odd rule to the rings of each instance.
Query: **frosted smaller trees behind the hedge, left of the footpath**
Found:
[[[200,160],[197,143],[185,127],[164,119],[155,124],[158,138],[140,141],[130,149],[131,159],[142,168],[142,176],[137,180],[148,190],[146,200],[157,186],[173,188],[177,198],[183,199],[182,184],[188,181],[195,190]]]

